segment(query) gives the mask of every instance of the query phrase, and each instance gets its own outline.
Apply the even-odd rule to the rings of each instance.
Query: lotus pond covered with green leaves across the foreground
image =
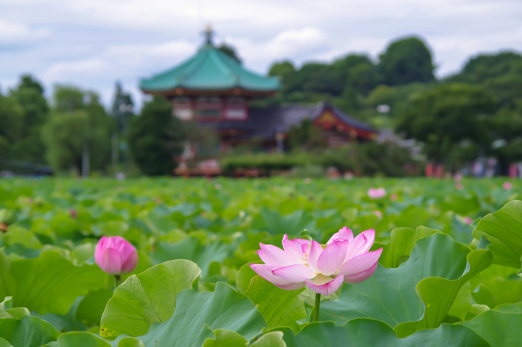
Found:
[[[0,180],[0,347],[520,346],[522,184],[505,181]],[[364,281],[316,295],[250,266],[283,235],[325,253],[344,226],[382,248]],[[134,246],[131,273],[100,268],[102,236]]]

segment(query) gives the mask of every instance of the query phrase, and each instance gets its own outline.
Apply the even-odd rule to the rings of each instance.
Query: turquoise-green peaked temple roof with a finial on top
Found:
[[[245,69],[235,59],[207,42],[197,54],[174,68],[140,81],[145,92],[162,92],[176,88],[193,90],[226,90],[241,88],[270,92],[280,88],[277,77],[258,75]]]

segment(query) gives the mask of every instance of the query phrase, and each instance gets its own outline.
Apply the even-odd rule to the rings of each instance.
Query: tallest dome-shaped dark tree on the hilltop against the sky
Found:
[[[388,86],[435,79],[431,53],[423,41],[414,37],[392,42],[379,56],[377,68]]]

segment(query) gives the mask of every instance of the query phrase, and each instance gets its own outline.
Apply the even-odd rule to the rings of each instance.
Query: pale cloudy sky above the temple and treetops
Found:
[[[522,51],[521,18],[520,0],[0,0],[0,87],[31,73],[48,95],[69,83],[109,105],[121,80],[140,104],[139,78],[194,54],[208,23],[259,73],[282,59],[376,59],[415,34],[446,76],[471,55]]]

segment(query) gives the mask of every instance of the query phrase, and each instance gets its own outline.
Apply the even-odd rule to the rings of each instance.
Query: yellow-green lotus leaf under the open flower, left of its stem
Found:
[[[304,301],[299,297],[303,291],[304,288],[292,291],[277,288],[257,275],[252,278],[245,295],[259,305],[259,311],[265,317],[269,329],[286,326],[298,332],[295,321],[306,317]]]

